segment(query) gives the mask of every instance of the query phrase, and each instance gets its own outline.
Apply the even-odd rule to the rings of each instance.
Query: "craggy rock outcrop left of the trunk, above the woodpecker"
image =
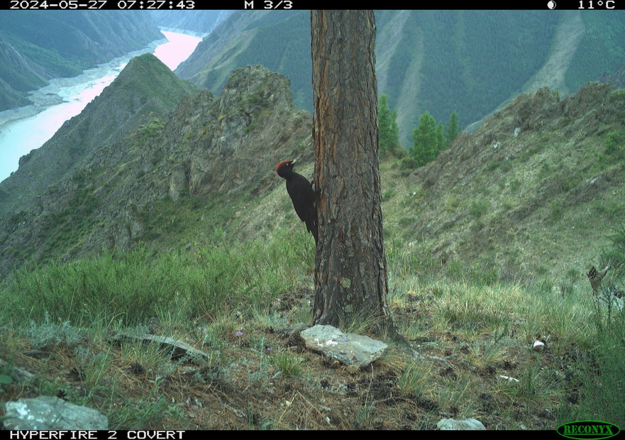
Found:
[[[247,66],[230,76],[197,123],[181,131],[190,148],[179,156],[172,185],[191,194],[240,192],[255,186],[254,177],[271,170],[280,153],[311,135],[311,120],[295,111],[288,79]],[[169,190],[174,198],[176,188]]]

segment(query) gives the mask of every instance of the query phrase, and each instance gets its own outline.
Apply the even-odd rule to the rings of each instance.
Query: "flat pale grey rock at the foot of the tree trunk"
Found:
[[[332,325],[314,325],[300,332],[306,349],[361,368],[384,356],[388,345],[368,336],[345,333]]]

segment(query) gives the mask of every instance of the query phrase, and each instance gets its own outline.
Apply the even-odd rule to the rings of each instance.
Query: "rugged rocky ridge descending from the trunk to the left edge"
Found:
[[[131,248],[159,199],[249,196],[277,185],[267,177],[294,151],[312,156],[311,116],[294,110],[288,79],[261,66],[239,69],[219,98],[203,90],[167,116],[143,115],[136,130],[94,150],[27,209],[2,217],[0,273],[26,258]]]

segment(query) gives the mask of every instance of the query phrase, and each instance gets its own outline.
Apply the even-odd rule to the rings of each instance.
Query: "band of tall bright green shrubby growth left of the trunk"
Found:
[[[175,254],[140,245],[128,253],[22,270],[0,295],[14,323],[49,315],[77,325],[97,319],[136,325],[163,310],[178,310],[187,319],[217,316],[226,302],[247,314],[267,313],[272,299],[294,289],[292,274],[308,267],[298,252],[288,241],[231,247],[216,239]]]

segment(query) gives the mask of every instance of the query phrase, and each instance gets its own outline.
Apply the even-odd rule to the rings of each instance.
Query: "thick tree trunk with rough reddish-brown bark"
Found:
[[[373,11],[311,11],[319,243],[313,324],[390,322]]]

